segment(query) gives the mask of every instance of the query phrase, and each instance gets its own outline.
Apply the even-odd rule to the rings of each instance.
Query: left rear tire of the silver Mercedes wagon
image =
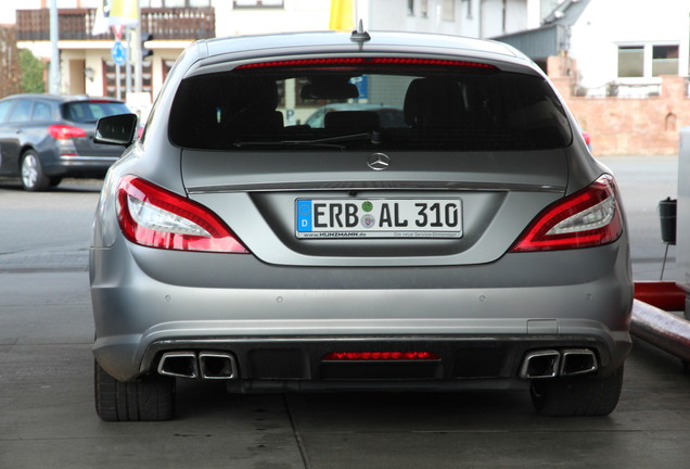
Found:
[[[175,414],[175,379],[118,381],[94,362],[95,411],[105,421],[162,421]]]

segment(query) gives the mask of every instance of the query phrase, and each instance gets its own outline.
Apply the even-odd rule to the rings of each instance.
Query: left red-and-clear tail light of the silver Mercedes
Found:
[[[124,178],[118,186],[117,220],[129,241],[145,246],[248,252],[208,208],[133,176]]]

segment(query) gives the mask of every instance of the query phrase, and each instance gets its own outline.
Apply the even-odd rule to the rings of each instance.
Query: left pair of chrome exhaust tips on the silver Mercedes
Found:
[[[234,379],[238,376],[234,356],[223,352],[166,352],[157,371],[173,378]]]

